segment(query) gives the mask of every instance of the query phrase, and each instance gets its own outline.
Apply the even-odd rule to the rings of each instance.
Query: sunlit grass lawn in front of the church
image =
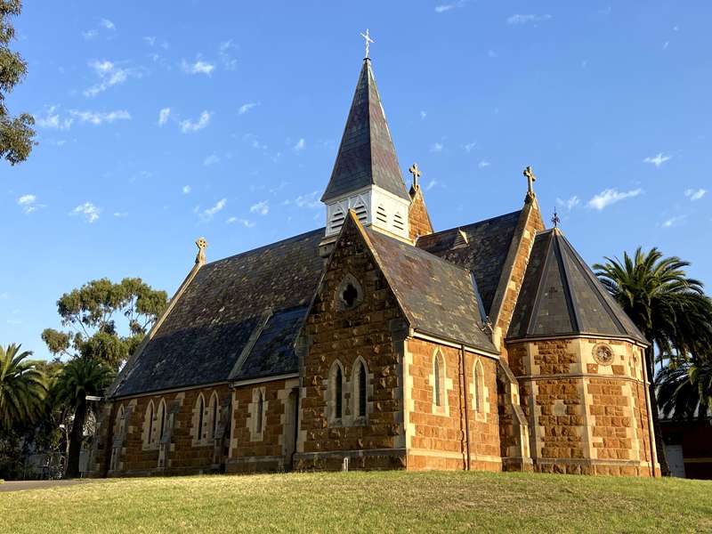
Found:
[[[0,493],[0,532],[702,532],[712,481],[524,473],[113,479]]]

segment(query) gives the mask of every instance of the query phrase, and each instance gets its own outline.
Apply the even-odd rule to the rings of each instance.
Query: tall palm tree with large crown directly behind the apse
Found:
[[[690,263],[676,256],[663,257],[657,248],[643,253],[641,247],[623,262],[605,258],[596,263],[596,275],[643,335],[651,342],[646,350],[651,397],[651,417],[660,468],[669,473],[660,433],[658,402],[653,384],[656,354],[674,362],[684,361],[691,353],[712,340],[712,301],[704,294],[702,283],[687,278],[684,268]]]

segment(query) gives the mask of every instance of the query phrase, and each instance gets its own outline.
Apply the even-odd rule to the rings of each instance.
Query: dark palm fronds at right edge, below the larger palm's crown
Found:
[[[664,417],[706,417],[712,408],[712,360],[669,365],[655,378]]]

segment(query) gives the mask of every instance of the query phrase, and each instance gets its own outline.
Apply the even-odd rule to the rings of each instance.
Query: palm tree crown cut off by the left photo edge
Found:
[[[0,429],[31,423],[42,409],[47,388],[44,375],[30,361],[32,352],[20,346],[0,346]]]

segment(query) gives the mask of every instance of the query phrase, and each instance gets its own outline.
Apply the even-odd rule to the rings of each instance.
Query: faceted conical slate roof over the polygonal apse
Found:
[[[647,343],[562,232],[552,229],[534,240],[507,338],[568,334]]]

